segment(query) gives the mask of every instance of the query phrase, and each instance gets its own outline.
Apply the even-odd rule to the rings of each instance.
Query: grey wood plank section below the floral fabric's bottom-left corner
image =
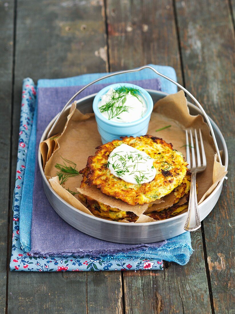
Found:
[[[86,313],[85,272],[9,274],[8,313]]]

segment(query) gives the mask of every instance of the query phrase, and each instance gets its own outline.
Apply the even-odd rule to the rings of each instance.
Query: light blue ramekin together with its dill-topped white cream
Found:
[[[123,136],[145,135],[152,110],[153,100],[150,94],[137,85],[118,83],[104,87],[93,100],[93,111],[102,143]]]

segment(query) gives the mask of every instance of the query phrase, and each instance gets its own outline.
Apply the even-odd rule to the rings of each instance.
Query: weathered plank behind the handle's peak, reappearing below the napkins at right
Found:
[[[146,63],[170,65],[183,82],[172,1],[107,0],[110,70]],[[127,313],[210,312],[201,231],[192,237],[195,252],[186,266],[164,272],[124,272]]]

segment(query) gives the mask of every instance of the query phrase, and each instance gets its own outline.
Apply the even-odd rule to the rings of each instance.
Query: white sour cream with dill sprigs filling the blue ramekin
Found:
[[[98,108],[105,118],[119,123],[139,120],[147,110],[140,93],[134,89],[128,92],[128,88],[124,86],[123,89],[109,89],[107,94],[101,96]]]

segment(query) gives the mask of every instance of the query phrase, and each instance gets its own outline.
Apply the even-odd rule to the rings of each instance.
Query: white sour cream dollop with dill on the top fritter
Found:
[[[114,176],[140,186],[155,178],[156,169],[153,161],[154,159],[145,152],[121,144],[110,153],[108,169]]]

